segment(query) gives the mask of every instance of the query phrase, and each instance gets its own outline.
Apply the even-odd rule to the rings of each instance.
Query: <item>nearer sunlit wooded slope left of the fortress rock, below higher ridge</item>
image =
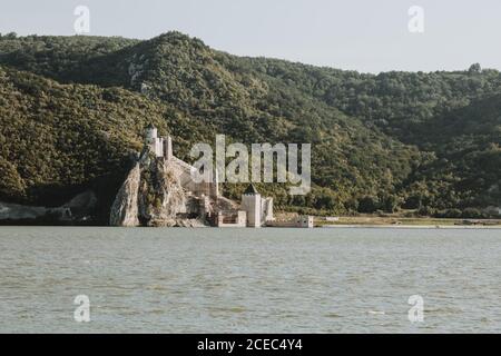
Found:
[[[168,112],[139,95],[59,85],[0,68],[0,199],[57,206],[102,180],[121,179],[147,122]]]

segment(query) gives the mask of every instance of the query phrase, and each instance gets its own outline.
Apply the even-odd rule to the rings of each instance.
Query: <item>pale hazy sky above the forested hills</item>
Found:
[[[501,69],[500,0],[0,0],[0,32],[75,34],[77,6],[91,36],[151,38],[169,30],[234,55],[341,69]],[[407,11],[424,10],[412,33]]]

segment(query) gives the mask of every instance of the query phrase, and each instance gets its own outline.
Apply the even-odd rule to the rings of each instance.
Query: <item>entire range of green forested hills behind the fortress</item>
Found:
[[[9,34],[0,66],[0,172],[10,177],[0,200],[56,204],[47,199],[56,189],[91,186],[109,167],[120,175],[151,120],[184,158],[216,134],[313,144],[312,194],[261,187],[286,209],[446,215],[501,205],[497,70],[366,75],[235,57],[178,32],[147,41]],[[28,157],[39,170],[27,169]]]

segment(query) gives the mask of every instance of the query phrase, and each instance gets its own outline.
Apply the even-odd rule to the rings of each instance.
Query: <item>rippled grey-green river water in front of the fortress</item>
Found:
[[[500,229],[0,227],[0,333],[440,332],[501,332]]]

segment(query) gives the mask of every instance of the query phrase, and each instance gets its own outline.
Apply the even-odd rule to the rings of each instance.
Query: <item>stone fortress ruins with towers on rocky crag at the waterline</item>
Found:
[[[170,136],[160,137],[154,126],[145,134],[143,152],[120,187],[110,210],[111,226],[313,227],[299,216],[276,221],[273,198],[252,184],[239,202],[223,197],[217,170],[196,181],[197,168],[177,158]]]

